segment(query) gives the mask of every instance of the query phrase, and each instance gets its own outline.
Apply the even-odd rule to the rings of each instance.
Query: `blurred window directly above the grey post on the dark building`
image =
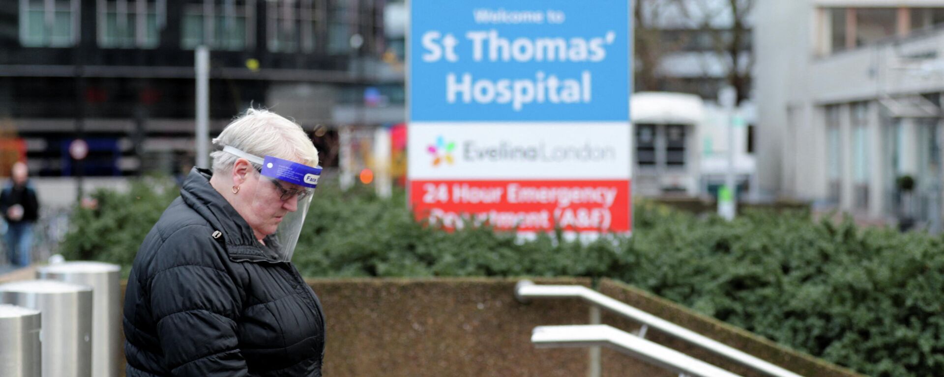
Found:
[[[254,0],[189,0],[184,6],[180,45],[244,51],[255,46]]]

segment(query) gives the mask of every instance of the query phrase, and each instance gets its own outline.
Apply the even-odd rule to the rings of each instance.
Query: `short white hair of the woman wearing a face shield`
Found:
[[[245,110],[213,139],[213,145],[220,149],[210,154],[214,174],[232,172],[240,158],[223,152],[225,146],[254,156],[274,156],[304,165],[318,165],[318,150],[301,126],[265,109]]]

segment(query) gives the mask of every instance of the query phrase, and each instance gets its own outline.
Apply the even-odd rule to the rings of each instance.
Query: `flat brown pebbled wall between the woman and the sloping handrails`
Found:
[[[515,280],[309,282],[328,323],[326,376],[577,376],[587,369],[586,351],[531,345],[535,326],[587,323],[587,307],[517,303]]]

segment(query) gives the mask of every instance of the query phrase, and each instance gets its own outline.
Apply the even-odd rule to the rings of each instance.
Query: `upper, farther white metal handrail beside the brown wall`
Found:
[[[514,286],[514,297],[521,303],[529,299],[551,298],[580,298],[588,303],[610,310],[627,319],[640,322],[655,328],[669,336],[675,336],[686,342],[699,346],[707,351],[715,352],[751,369],[760,371],[773,377],[802,377],[801,375],[777,367],[748,353],[734,349],[707,336],[702,336],[675,323],[663,320],[626,303],[621,303],[599,293],[596,290],[582,286],[538,286],[530,280],[522,280]]]

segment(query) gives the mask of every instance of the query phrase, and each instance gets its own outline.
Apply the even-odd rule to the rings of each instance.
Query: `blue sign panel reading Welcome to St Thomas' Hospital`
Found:
[[[410,120],[629,121],[626,0],[412,0]]]

